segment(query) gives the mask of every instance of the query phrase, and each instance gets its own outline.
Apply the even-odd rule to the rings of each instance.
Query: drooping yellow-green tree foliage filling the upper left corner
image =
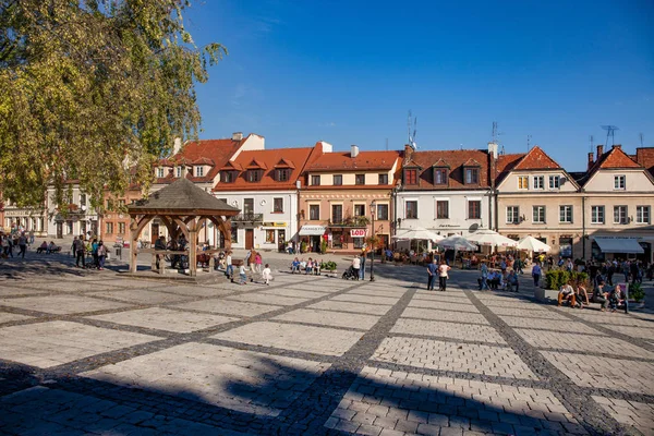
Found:
[[[0,0],[0,189],[43,203],[76,180],[102,192],[145,190],[177,136],[196,137],[195,83],[227,50],[197,47],[187,0]],[[60,207],[62,209],[62,207]]]

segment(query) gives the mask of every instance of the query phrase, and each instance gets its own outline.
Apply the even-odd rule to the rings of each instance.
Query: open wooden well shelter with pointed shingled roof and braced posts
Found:
[[[189,269],[196,275],[197,235],[207,221],[213,222],[225,237],[226,249],[231,249],[231,220],[240,209],[197,187],[187,179],[179,179],[128,207],[130,225],[130,272],[136,272],[137,241],[141,231],[158,218],[177,239],[182,232],[189,241]],[[149,250],[148,250],[149,251]]]

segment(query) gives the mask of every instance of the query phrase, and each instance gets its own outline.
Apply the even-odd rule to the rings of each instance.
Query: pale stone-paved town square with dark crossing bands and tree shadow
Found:
[[[0,265],[0,434],[654,434],[651,314],[275,263],[270,286]]]

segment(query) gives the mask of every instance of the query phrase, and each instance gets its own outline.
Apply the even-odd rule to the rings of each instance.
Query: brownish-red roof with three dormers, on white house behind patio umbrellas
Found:
[[[479,189],[488,187],[488,154],[485,150],[433,150],[433,152],[413,152],[410,157],[422,171],[420,172],[419,185],[405,184],[407,190],[443,190],[443,189]],[[449,184],[434,185],[434,167],[448,167]],[[469,185],[463,183],[463,167],[480,167],[480,183]]]

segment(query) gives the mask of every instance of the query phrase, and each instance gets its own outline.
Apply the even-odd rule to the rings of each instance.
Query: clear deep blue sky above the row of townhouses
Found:
[[[497,4],[496,4],[497,3]],[[419,149],[541,145],[583,170],[606,142],[654,146],[654,2],[206,0],[198,45],[229,56],[198,85],[202,138],[258,133],[266,147]]]

